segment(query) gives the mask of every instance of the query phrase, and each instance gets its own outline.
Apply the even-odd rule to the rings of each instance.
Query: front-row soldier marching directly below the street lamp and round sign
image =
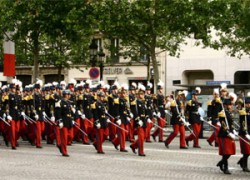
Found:
[[[104,154],[102,149],[102,144],[108,136],[108,122],[110,121],[106,117],[106,108],[104,102],[105,94],[100,91],[97,93],[97,101],[95,107],[93,107],[94,115],[94,124],[96,128],[96,140],[93,143],[93,146],[97,150],[97,153]]]

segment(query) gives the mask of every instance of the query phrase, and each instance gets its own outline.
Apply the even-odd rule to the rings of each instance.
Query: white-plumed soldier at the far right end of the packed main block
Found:
[[[159,136],[159,142],[163,142],[163,128],[166,125],[166,113],[165,113],[165,97],[163,95],[163,82],[160,81],[157,84],[157,97],[154,100],[155,109],[158,111],[157,113],[157,121],[158,125],[161,127],[156,128],[155,132],[152,134],[152,138],[156,141],[156,137]]]

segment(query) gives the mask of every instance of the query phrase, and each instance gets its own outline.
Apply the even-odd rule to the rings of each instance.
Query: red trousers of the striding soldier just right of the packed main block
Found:
[[[185,126],[182,124],[174,124],[173,125],[174,132],[172,132],[168,138],[167,138],[167,143],[170,144],[172,140],[178,135],[180,132],[180,147],[186,147],[186,142],[185,142]]]

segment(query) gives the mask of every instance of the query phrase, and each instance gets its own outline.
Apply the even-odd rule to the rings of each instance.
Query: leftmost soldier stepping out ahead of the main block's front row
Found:
[[[74,125],[73,112],[70,102],[70,91],[63,90],[63,98],[60,103],[59,127],[61,131],[61,147],[60,152],[62,156],[68,157],[67,145],[73,139],[72,128]]]

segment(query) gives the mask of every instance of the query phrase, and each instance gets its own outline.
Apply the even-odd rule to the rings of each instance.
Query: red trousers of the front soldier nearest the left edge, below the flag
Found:
[[[10,122],[10,125],[11,127],[8,128],[9,133],[7,139],[11,142],[11,146],[15,148],[17,144],[18,133],[20,130],[20,121],[12,120]]]

